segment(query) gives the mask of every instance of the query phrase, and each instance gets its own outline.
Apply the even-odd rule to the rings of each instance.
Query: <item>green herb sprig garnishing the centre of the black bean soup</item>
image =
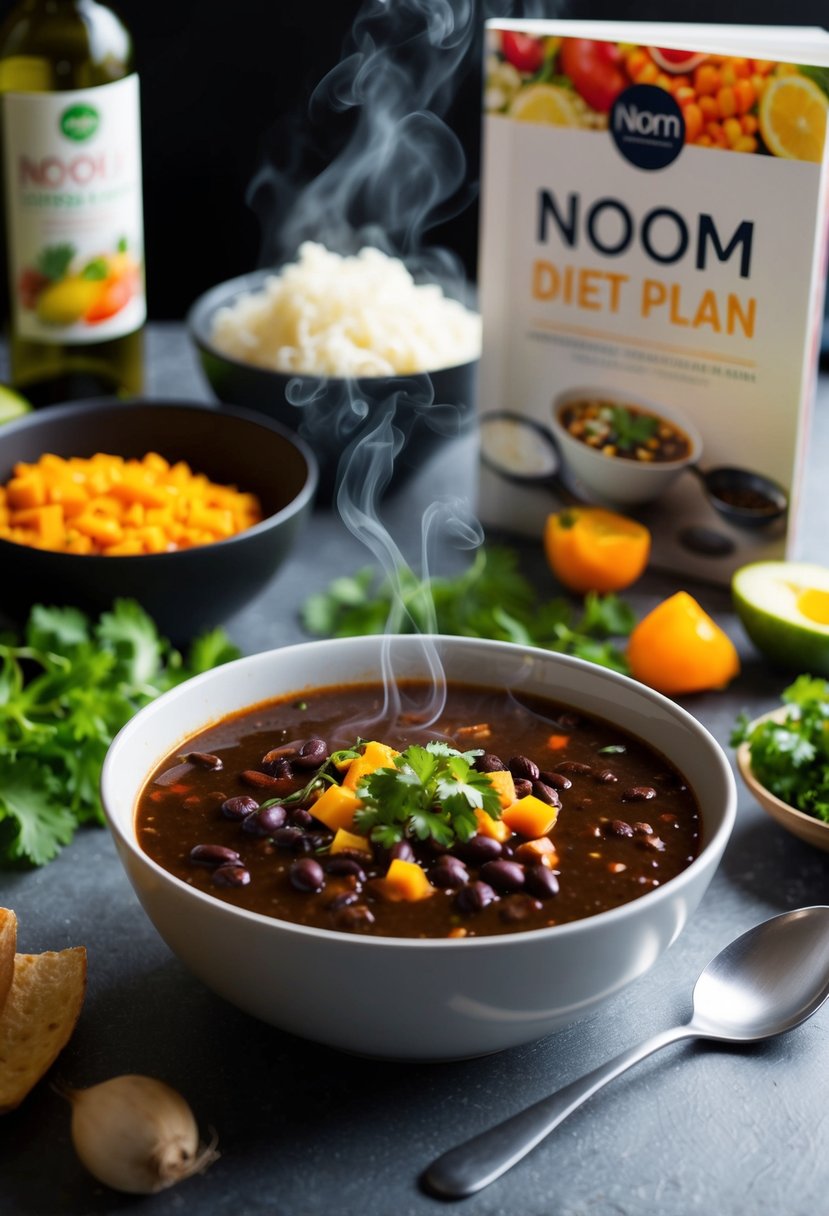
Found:
[[[411,744],[395,756],[394,767],[374,770],[359,786],[357,831],[389,849],[406,837],[432,837],[447,848],[468,840],[478,831],[475,810],[501,818],[492,783],[473,767],[480,754],[439,739]]]

